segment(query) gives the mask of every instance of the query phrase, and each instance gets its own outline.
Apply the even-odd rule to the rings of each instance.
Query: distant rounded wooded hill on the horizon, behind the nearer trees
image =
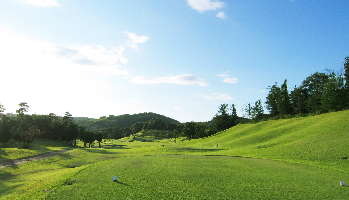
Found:
[[[169,124],[171,122],[180,123],[177,120],[166,117],[164,115],[145,112],[138,114],[124,114],[124,115],[109,115],[109,117],[103,116],[99,119],[87,118],[87,117],[73,117],[75,123],[85,126],[89,130],[100,130],[101,128],[108,127],[119,127],[119,128],[130,128],[134,123],[137,122],[149,122],[150,119],[160,118],[165,124]]]

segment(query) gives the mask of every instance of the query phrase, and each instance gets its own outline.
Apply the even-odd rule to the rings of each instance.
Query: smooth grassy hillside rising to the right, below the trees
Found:
[[[349,169],[349,111],[240,124],[186,145],[216,147],[209,154],[254,157]]]

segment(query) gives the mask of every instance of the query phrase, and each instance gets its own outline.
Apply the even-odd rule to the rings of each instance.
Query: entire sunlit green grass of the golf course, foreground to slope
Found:
[[[347,199],[339,181],[349,183],[348,122],[343,111],[242,124],[192,141],[147,136],[153,142],[78,148],[0,170],[0,199]],[[30,151],[66,148],[41,142]],[[1,151],[2,159],[25,154]]]

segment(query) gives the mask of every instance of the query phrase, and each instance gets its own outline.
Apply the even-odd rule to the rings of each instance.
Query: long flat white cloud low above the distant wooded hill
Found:
[[[177,85],[199,85],[199,86],[209,86],[209,83],[205,79],[198,78],[192,74],[170,76],[170,77],[144,77],[137,76],[130,78],[132,83],[137,84],[161,84],[161,83],[173,83]]]

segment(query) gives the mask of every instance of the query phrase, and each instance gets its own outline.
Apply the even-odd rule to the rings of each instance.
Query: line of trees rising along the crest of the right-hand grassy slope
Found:
[[[288,91],[287,79],[280,87],[275,83],[267,89],[267,114],[261,99],[244,105],[243,117],[237,116],[235,104],[230,107],[229,104],[221,104],[210,122],[185,123],[182,136],[201,138],[240,123],[346,110],[349,108],[349,56],[344,59],[344,70],[337,73],[328,69],[326,73],[315,72],[291,92]]]

